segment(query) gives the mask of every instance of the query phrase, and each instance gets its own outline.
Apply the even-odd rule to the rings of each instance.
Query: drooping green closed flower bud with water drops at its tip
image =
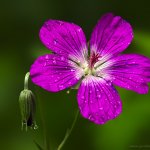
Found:
[[[28,126],[32,129],[37,129],[35,121],[35,96],[31,90],[24,89],[21,91],[19,96],[19,105],[22,117],[22,130],[24,129],[24,126],[26,131]]]

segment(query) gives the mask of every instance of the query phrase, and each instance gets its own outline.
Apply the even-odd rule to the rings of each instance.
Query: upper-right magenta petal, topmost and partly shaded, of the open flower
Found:
[[[131,25],[120,16],[108,13],[100,18],[92,32],[91,51],[111,57],[126,49],[132,38]]]

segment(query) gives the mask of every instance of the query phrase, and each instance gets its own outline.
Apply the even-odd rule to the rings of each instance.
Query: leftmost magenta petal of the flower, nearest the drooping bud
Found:
[[[32,81],[40,87],[57,92],[79,81],[82,70],[64,56],[47,54],[40,56],[31,66]]]

